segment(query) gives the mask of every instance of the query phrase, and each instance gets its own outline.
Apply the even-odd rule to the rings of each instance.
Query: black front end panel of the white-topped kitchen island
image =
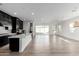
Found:
[[[19,52],[19,38],[9,38],[9,49]]]

